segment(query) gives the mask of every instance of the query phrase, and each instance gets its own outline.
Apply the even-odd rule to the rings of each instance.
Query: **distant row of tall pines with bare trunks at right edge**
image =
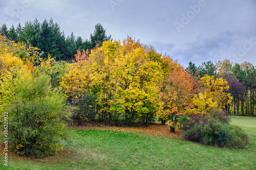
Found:
[[[230,115],[255,116],[256,70],[250,62],[234,63],[228,59],[203,62],[196,66],[191,61],[186,68],[191,75],[202,77],[204,75],[224,78],[232,96],[232,102],[225,106]]]

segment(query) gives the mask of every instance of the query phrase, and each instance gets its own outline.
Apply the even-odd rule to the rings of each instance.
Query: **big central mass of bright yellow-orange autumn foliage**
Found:
[[[146,123],[153,120],[158,103],[160,55],[130,37],[122,44],[105,41],[90,55],[77,51],[77,62],[63,77],[61,87],[76,106],[84,94],[92,96],[87,106],[100,122],[112,124],[120,118],[125,124]],[[80,111],[85,110],[80,107]]]

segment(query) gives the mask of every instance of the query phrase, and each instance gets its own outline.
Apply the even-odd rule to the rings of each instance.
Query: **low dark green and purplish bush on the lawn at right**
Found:
[[[205,145],[243,149],[249,143],[248,135],[241,128],[230,125],[229,118],[219,111],[210,116],[192,115],[183,120],[182,127],[181,134],[185,139]]]

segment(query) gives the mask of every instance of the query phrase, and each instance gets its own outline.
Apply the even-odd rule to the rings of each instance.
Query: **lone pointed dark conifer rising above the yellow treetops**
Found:
[[[100,23],[96,23],[94,33],[90,36],[92,47],[95,47],[96,43],[98,43],[99,46],[101,46],[103,41],[109,40],[112,41],[111,35],[107,36],[105,34],[105,29],[103,28],[103,26]]]

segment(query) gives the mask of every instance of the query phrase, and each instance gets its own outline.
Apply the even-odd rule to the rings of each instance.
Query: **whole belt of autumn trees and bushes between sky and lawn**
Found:
[[[196,66],[190,61],[184,68],[131,36],[113,40],[100,23],[90,39],[66,37],[52,19],[10,29],[2,25],[0,33],[1,114],[12,113],[10,135],[20,155],[58,150],[65,125],[85,122],[161,122],[170,132],[183,130],[184,138],[203,144],[248,144],[243,132],[242,140],[233,142],[240,129],[231,127],[226,115],[256,115],[256,70],[250,62],[225,59]],[[197,137],[199,130],[193,128],[200,126],[205,136]]]

